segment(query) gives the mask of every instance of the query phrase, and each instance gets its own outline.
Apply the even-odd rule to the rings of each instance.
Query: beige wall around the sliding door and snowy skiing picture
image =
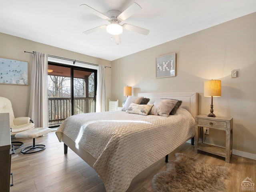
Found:
[[[29,99],[30,99],[30,73],[32,69],[32,54],[24,53],[38,51],[49,55],[70,58],[78,61],[84,61],[92,64],[101,64],[104,66],[111,66],[111,62],[100,58],[71,52],[68,50],[48,46],[46,44],[37,43],[34,41],[10,36],[0,33],[0,58],[8,58],[14,60],[27,61],[29,65],[29,85],[8,85],[0,84],[0,96],[10,99],[14,115],[28,116]],[[111,96],[111,69],[105,68],[105,81],[106,81],[106,101]]]

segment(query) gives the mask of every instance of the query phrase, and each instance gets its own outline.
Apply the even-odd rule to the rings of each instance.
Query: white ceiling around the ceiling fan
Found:
[[[117,45],[104,29],[82,33],[109,22],[80,4],[107,15],[133,2],[142,10],[125,23],[150,30],[148,36],[124,30]],[[112,61],[256,12],[256,0],[0,0],[0,8],[2,33]]]

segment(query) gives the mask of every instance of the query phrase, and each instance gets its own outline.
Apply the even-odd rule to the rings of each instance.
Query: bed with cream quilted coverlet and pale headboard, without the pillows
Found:
[[[125,111],[78,114],[56,130],[64,153],[68,146],[94,168],[107,192],[125,192],[135,176],[194,137],[196,92],[138,96],[149,98],[148,105],[162,98],[182,100],[182,105],[168,117]]]

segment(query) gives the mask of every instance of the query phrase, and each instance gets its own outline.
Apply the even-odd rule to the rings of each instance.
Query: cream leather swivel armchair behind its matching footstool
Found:
[[[10,116],[10,128],[11,137],[14,138],[15,135],[24,130],[34,128],[34,123],[29,117],[14,117],[12,110],[12,103],[9,99],[0,96],[0,113],[9,113]],[[12,142],[14,149],[18,149],[23,146],[22,142]]]

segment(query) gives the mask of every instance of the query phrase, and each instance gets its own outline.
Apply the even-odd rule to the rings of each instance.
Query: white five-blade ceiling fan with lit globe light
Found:
[[[92,14],[95,14],[96,16],[98,16],[104,20],[108,20],[110,22],[110,24],[108,24],[108,25],[101,25],[96,28],[86,30],[83,32],[84,34],[90,34],[97,30],[106,28],[108,33],[114,35],[116,44],[120,44],[121,43],[120,34],[123,32],[123,29],[134,31],[134,32],[137,32],[137,33],[140,33],[143,35],[148,35],[148,33],[149,33],[149,30],[144,29],[144,28],[140,28],[140,27],[137,27],[134,25],[126,24],[126,23],[120,24],[121,22],[123,22],[124,20],[126,20],[127,18],[129,18],[130,16],[132,16],[133,14],[135,14],[136,12],[138,12],[139,10],[142,9],[135,2],[133,4],[131,4],[128,8],[126,8],[126,10],[124,10],[123,12],[120,12],[118,10],[108,11],[109,16],[102,14],[101,12],[95,10],[94,8],[92,8],[86,4],[82,4],[80,6],[84,6],[84,7],[88,8],[90,10],[90,12],[92,12]]]

